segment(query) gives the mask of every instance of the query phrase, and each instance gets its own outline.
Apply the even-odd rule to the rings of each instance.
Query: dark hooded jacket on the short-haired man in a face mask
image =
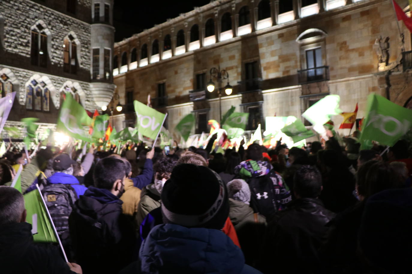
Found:
[[[87,195],[90,191],[75,202],[69,217],[75,259],[84,274],[117,273],[132,262],[133,226],[122,214],[121,200],[105,200],[107,197],[99,197],[97,192],[97,197]]]

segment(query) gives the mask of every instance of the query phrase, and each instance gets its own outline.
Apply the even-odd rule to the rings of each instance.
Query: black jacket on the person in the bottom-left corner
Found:
[[[56,246],[33,243],[30,223],[9,223],[0,226],[0,272],[75,273],[60,256]]]

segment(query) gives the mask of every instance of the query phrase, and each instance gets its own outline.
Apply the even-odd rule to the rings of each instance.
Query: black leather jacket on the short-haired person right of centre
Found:
[[[321,200],[302,198],[287,204],[269,221],[262,264],[265,273],[319,273],[318,249],[335,213]],[[274,267],[273,262],[276,263]]]

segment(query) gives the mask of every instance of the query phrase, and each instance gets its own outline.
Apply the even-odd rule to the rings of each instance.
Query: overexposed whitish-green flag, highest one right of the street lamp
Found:
[[[332,115],[342,113],[339,109],[339,95],[327,95],[308,108],[302,116],[312,124],[323,125]]]

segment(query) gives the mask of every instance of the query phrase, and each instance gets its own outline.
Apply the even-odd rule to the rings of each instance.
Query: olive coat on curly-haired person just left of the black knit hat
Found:
[[[155,184],[149,184],[140,193],[140,202],[136,213],[136,225],[138,228],[140,228],[147,214],[157,207],[160,207],[160,192],[155,188]]]

